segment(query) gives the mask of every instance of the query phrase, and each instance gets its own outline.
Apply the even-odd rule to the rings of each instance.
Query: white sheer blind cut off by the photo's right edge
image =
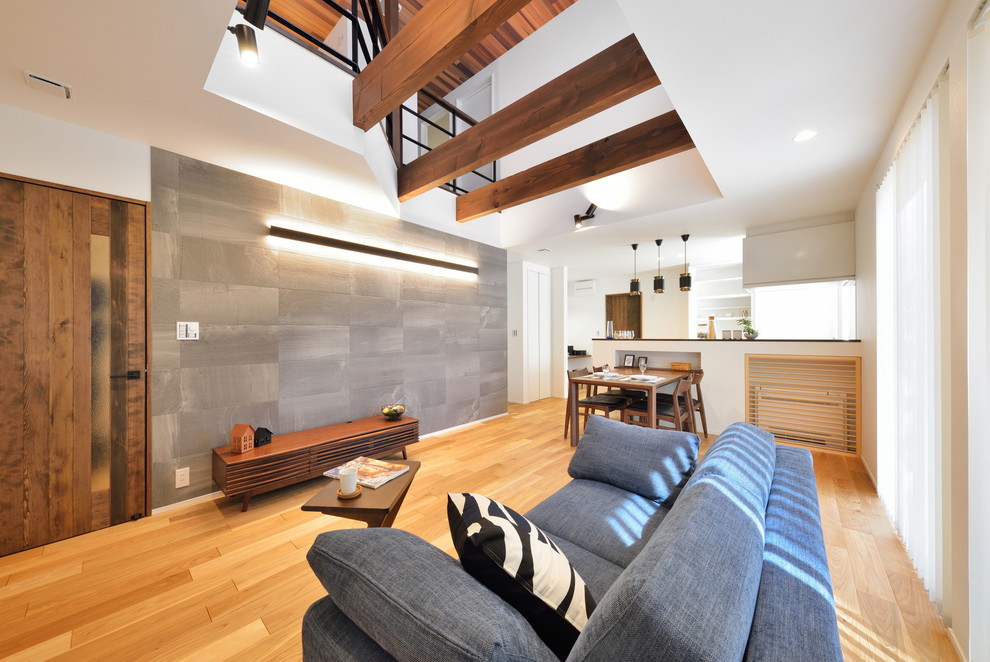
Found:
[[[967,308],[969,312],[969,659],[990,659],[990,25],[969,38],[967,122]]]

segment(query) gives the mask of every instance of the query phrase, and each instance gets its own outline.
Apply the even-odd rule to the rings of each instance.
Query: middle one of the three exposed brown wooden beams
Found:
[[[399,168],[405,202],[660,84],[636,35]]]

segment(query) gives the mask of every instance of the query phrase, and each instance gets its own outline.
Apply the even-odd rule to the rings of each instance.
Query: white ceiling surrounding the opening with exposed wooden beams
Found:
[[[656,238],[665,239],[664,264],[676,264],[686,232],[693,265],[738,262],[747,229],[850,212],[949,0],[582,0],[568,12],[611,3],[621,11],[612,11],[616,24],[603,33],[633,26],[662,89],[530,148],[512,167],[670,107],[697,150],[501,215],[503,244],[514,256],[569,266],[572,278],[626,274],[629,244],[652,256]],[[0,103],[378,211],[397,209],[364,155],[204,91],[235,0],[4,5]],[[562,17],[549,26],[566,25]],[[585,57],[600,50],[587,35],[569,36],[571,45],[587,42]],[[550,50],[539,59],[553,57]],[[24,69],[72,84],[75,98],[28,88]],[[793,142],[802,129],[818,136]],[[575,234],[572,218],[589,200],[601,207],[598,229]]]

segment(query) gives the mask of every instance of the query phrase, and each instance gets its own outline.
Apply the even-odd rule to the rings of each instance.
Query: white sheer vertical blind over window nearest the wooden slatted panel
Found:
[[[878,492],[942,599],[938,113],[932,93],[877,191]]]

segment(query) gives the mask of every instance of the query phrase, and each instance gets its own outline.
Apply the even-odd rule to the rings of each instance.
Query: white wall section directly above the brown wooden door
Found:
[[[147,145],[4,105],[0,105],[0,173],[151,199]]]

